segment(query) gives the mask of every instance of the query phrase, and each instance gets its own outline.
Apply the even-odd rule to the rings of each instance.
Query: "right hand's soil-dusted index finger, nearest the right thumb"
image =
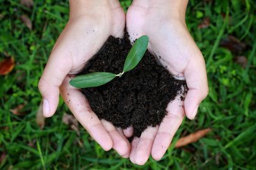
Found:
[[[184,102],[180,100],[180,96],[168,104],[166,108],[167,115],[159,126],[151,155],[155,160],[160,160],[172,141],[173,135],[180,127],[184,119]]]

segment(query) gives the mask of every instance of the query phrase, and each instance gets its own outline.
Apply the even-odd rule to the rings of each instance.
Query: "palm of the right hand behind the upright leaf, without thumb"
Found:
[[[191,52],[195,53],[198,49],[182,22],[175,19],[166,22],[164,17],[167,16],[161,16],[157,9],[148,11],[140,6],[132,6],[127,13],[127,30],[132,41],[139,35],[148,35],[150,52],[160,56],[163,65],[167,65],[173,75],[182,77]]]

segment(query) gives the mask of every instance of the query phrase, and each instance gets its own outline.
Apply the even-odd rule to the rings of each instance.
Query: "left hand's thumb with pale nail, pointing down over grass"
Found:
[[[71,58],[63,56],[67,53],[57,49],[54,48],[52,50],[42,77],[38,82],[38,89],[43,98],[43,113],[45,117],[51,117],[56,111],[59,103],[59,87],[72,66]]]

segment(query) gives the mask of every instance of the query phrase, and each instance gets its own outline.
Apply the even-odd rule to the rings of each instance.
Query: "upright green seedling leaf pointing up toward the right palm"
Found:
[[[143,58],[148,47],[148,36],[143,35],[132,46],[127,58],[125,59],[123,72],[132,70]]]

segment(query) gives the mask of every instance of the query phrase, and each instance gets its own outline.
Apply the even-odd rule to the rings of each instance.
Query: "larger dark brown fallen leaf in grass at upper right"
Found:
[[[231,52],[242,52],[246,48],[246,44],[240,42],[236,37],[230,35],[220,43],[221,47],[224,47]]]

